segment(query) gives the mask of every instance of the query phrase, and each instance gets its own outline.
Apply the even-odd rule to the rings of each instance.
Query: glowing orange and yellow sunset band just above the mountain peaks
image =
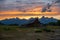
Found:
[[[25,13],[25,14],[23,14],[23,13]],[[16,17],[18,17],[20,19],[23,19],[23,18],[29,19],[31,17],[41,18],[41,16],[54,17],[54,16],[57,16],[57,15],[60,15],[60,14],[58,14],[58,12],[18,12],[18,11],[8,11],[8,12],[6,12],[5,11],[5,12],[1,12],[0,20],[6,19],[6,18],[16,18]],[[59,18],[57,18],[57,19],[59,19]]]

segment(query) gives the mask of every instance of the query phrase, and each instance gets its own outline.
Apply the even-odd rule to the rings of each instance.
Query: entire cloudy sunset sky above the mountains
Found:
[[[0,0],[0,19],[47,16],[60,19],[59,0]]]

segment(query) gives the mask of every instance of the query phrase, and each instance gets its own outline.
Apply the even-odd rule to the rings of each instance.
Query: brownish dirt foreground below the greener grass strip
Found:
[[[0,40],[60,40],[60,29],[56,29],[55,32],[41,32],[35,33],[32,30],[22,31],[5,31],[1,32]]]

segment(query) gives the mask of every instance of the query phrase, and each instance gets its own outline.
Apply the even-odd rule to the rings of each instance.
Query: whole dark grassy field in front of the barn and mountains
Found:
[[[20,28],[20,26],[0,25],[0,40],[60,40],[60,27]]]

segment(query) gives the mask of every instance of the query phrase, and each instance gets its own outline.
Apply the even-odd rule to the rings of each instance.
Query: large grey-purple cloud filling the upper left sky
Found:
[[[28,1],[28,0],[1,0],[0,11],[7,11],[17,9],[18,11],[25,12],[26,9],[34,6],[42,5],[44,2]],[[30,2],[30,3],[29,3]]]

